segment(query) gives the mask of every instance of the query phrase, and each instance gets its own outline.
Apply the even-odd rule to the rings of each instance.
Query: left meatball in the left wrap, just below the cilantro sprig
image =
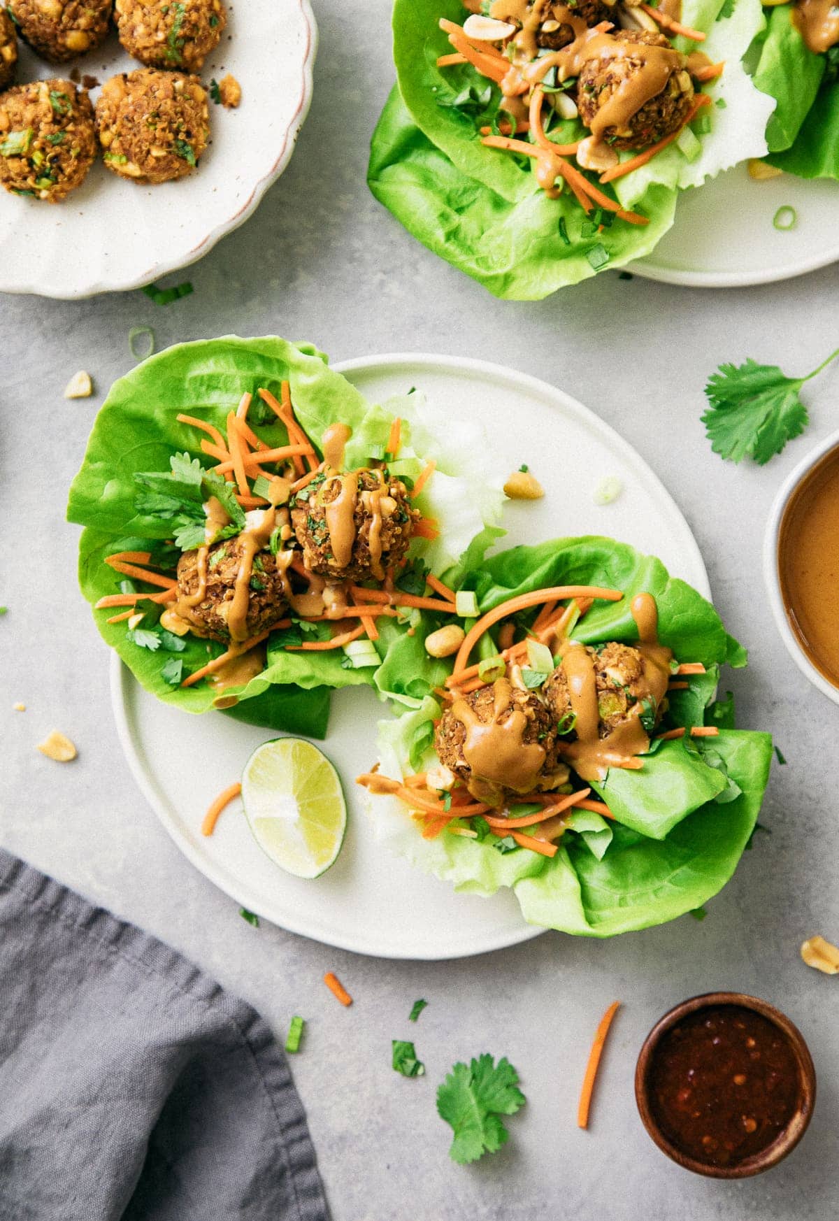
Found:
[[[186,619],[197,636],[228,642],[231,639],[227,615],[233,601],[236,578],[242,562],[241,537],[227,538],[210,547],[206,564],[206,589],[198,606],[191,607],[184,600],[198,592],[198,552],[184,551],[178,560],[178,602],[176,613]],[[270,551],[260,551],[254,558],[250,575],[248,615],[243,639],[258,636],[260,631],[282,619],[287,609],[285,574]]]

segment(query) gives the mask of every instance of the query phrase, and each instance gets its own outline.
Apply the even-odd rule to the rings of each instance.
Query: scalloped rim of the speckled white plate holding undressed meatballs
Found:
[[[50,287],[49,284],[38,286],[31,281],[26,283],[16,282],[11,287],[5,282],[0,282],[0,292],[9,293],[10,295],[33,295],[44,297],[48,300],[67,302],[85,300],[90,297],[101,295],[103,293],[133,292],[158,277],[167,276],[173,271],[182,271],[184,267],[191,267],[193,264],[198,263],[206,254],[209,254],[223,237],[227,237],[228,233],[233,233],[237,228],[244,225],[244,222],[248,221],[259,208],[259,204],[263,201],[267,189],[272,187],[285,172],[297,147],[297,138],[300,133],[300,128],[303,127],[307,115],[309,114],[309,107],[311,106],[311,98],[314,93],[314,62],[318,54],[320,34],[310,0],[296,0],[296,2],[299,6],[300,15],[307,28],[307,45],[300,66],[300,95],[297,109],[294,110],[291,123],[286,128],[280,155],[271,168],[254,184],[248,200],[242,205],[242,208],[238,209],[238,211],[233,214],[233,216],[228,217],[226,221],[221,221],[215,226],[215,228],[210,230],[206,237],[202,238],[202,241],[187,253],[186,258],[183,255],[173,255],[171,259],[164,260],[162,263],[155,263],[139,276],[129,276],[128,278],[120,277],[116,282],[100,278],[92,284],[85,283],[72,289],[59,289],[56,286]],[[81,260],[79,266],[84,267],[84,260]]]

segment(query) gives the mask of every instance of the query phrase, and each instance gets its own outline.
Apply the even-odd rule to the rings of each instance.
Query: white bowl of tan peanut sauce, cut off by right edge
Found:
[[[790,657],[839,703],[839,432],[780,487],[763,542],[763,575]]]

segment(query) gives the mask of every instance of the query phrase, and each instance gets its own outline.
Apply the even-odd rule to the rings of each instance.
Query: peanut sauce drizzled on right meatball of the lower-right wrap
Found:
[[[648,696],[657,708],[667,694],[673,651],[658,643],[656,600],[651,593],[636,593],[631,612],[639,635],[635,647],[645,662],[646,691],[639,696],[630,716],[606,737],[600,736],[594,658],[578,643],[570,645],[563,653],[562,665],[568,680],[572,711],[576,714],[576,741],[568,745],[563,755],[583,780],[605,780],[609,766],[619,766],[624,759],[648,751],[650,736],[639,716],[641,701]]]

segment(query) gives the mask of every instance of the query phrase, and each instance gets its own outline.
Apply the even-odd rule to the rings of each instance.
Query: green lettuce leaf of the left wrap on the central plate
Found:
[[[226,337],[208,342],[184,343],[169,348],[138,365],[111,388],[90,433],[82,468],[76,476],[67,507],[70,521],[84,526],[79,543],[79,584],[85,598],[96,603],[117,593],[125,582],[109,568],[105,558],[117,552],[150,552],[151,563],[172,568],[180,551],[171,546],[172,519],[153,512],[154,503],[144,499],[137,476],[149,479],[155,488],[166,487],[154,473],[175,470],[195,477],[214,464],[200,451],[203,433],[178,422],[184,413],[223,431],[227,413],[236,408],[244,392],[254,396],[249,422],[270,448],[287,443],[287,432],[271,411],[260,413],[256,391],[261,387],[276,397],[288,381],[298,424],[320,451],[326,427],[343,422],[352,427],[346,447],[346,464],[361,466],[381,458],[391,424],[402,420],[402,446],[398,460],[390,469],[410,481],[416,479],[429,459],[436,462],[434,477],[416,497],[416,507],[436,519],[437,538],[412,540],[407,565],[398,581],[412,591],[425,586],[424,573],[458,573],[458,565],[471,567],[503,531],[498,527],[503,503],[503,463],[496,459],[481,430],[452,421],[413,391],[399,399],[372,405],[340,374],[327,365],[327,358],[310,344],[288,343],[280,338],[241,339]],[[443,446],[437,437],[445,437]],[[183,460],[173,455],[184,455]],[[480,459],[480,460],[479,460]],[[139,505],[139,508],[138,508]],[[197,546],[197,543],[195,543]],[[126,590],[123,589],[123,592]],[[223,652],[215,641],[173,636],[156,625],[161,607],[142,603],[145,612],[138,630],[127,630],[125,621],[109,624],[111,612],[96,610],[96,625],[105,641],[118,652],[138,681],[159,698],[187,712],[202,713],[214,707],[217,692],[205,683],[182,687],[183,678],[203,667],[210,657]],[[247,685],[231,687],[225,697],[237,697],[232,716],[254,724],[322,737],[329,717],[329,689],[354,684],[374,686],[382,697],[407,697],[409,686],[393,658],[405,651],[407,629],[418,615],[404,621],[388,619],[381,624],[375,642],[380,664],[354,669],[341,650],[332,652],[288,652],[308,634],[316,639],[329,631],[329,624],[293,621],[291,629],[272,631],[267,639],[265,669]],[[438,617],[426,617],[429,623]],[[410,652],[408,646],[407,652]],[[393,675],[394,689],[388,689]]]

